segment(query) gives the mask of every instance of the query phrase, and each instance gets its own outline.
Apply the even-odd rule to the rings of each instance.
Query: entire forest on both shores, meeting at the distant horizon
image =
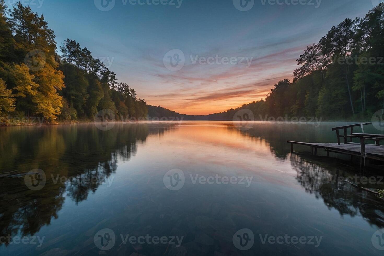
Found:
[[[384,110],[383,10],[380,3],[363,18],[346,18],[333,26],[296,60],[293,79],[278,81],[264,99],[208,116],[188,116],[147,105],[74,40],[65,40],[59,55],[55,33],[43,15],[20,2],[8,9],[0,0],[0,123],[31,116],[46,122],[93,120],[101,109],[111,109],[116,119],[179,115],[232,120],[235,112],[247,108],[255,120],[265,115],[370,120]]]

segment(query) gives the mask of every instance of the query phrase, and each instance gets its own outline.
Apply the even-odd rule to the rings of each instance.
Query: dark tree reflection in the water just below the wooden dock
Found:
[[[329,210],[334,208],[341,215],[361,215],[370,224],[384,227],[384,221],[377,214],[380,211],[384,212],[383,201],[372,193],[339,179],[339,177],[353,177],[355,173],[339,167],[324,168],[294,154],[290,160],[291,166],[297,172],[296,178],[300,185],[307,192],[322,198]]]

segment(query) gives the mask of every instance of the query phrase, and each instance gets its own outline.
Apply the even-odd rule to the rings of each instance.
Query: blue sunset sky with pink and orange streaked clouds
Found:
[[[5,0],[12,5],[16,0]],[[241,2],[240,2],[241,1]],[[382,0],[22,0],[147,104],[211,114],[265,98],[296,59]]]

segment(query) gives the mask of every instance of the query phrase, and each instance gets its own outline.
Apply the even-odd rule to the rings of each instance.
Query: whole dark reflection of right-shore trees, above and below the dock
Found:
[[[338,123],[341,124],[341,123]],[[236,126],[236,125],[235,125]],[[336,135],[331,130],[337,126],[334,122],[322,123],[319,127],[314,125],[277,124],[274,122],[256,122],[252,129],[240,131],[245,136],[256,137],[265,140],[270,146],[271,154],[281,161],[289,160],[291,167],[297,172],[297,181],[308,193],[313,193],[316,198],[322,198],[329,209],[336,209],[340,215],[363,216],[371,224],[384,227],[384,200],[374,194],[356,188],[343,180],[351,177],[362,187],[371,190],[384,189],[382,171],[379,169],[359,169],[359,159],[354,159],[354,164],[349,162],[349,157],[337,155],[338,159],[325,158],[325,152],[318,150],[320,157],[306,156],[309,147],[295,145],[295,152],[304,154],[296,155],[290,153],[290,144],[287,140],[302,142],[337,142]],[[228,127],[228,129],[236,129]],[[364,128],[369,132],[376,132],[374,128]],[[330,154],[336,157],[336,154]],[[323,157],[323,158],[322,158]],[[344,159],[344,160],[343,160]],[[346,161],[348,159],[348,161]],[[361,181],[361,177],[374,177],[376,183]],[[344,179],[342,179],[344,178]],[[342,181],[340,181],[342,180]],[[364,184],[364,185],[363,185]]]

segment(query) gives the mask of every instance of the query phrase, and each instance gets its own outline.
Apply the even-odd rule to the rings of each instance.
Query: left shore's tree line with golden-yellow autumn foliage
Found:
[[[117,119],[143,117],[144,99],[87,48],[67,39],[57,52],[43,15],[0,0],[0,116],[44,117],[48,122],[93,119],[111,109]],[[4,122],[4,120],[2,120]]]

